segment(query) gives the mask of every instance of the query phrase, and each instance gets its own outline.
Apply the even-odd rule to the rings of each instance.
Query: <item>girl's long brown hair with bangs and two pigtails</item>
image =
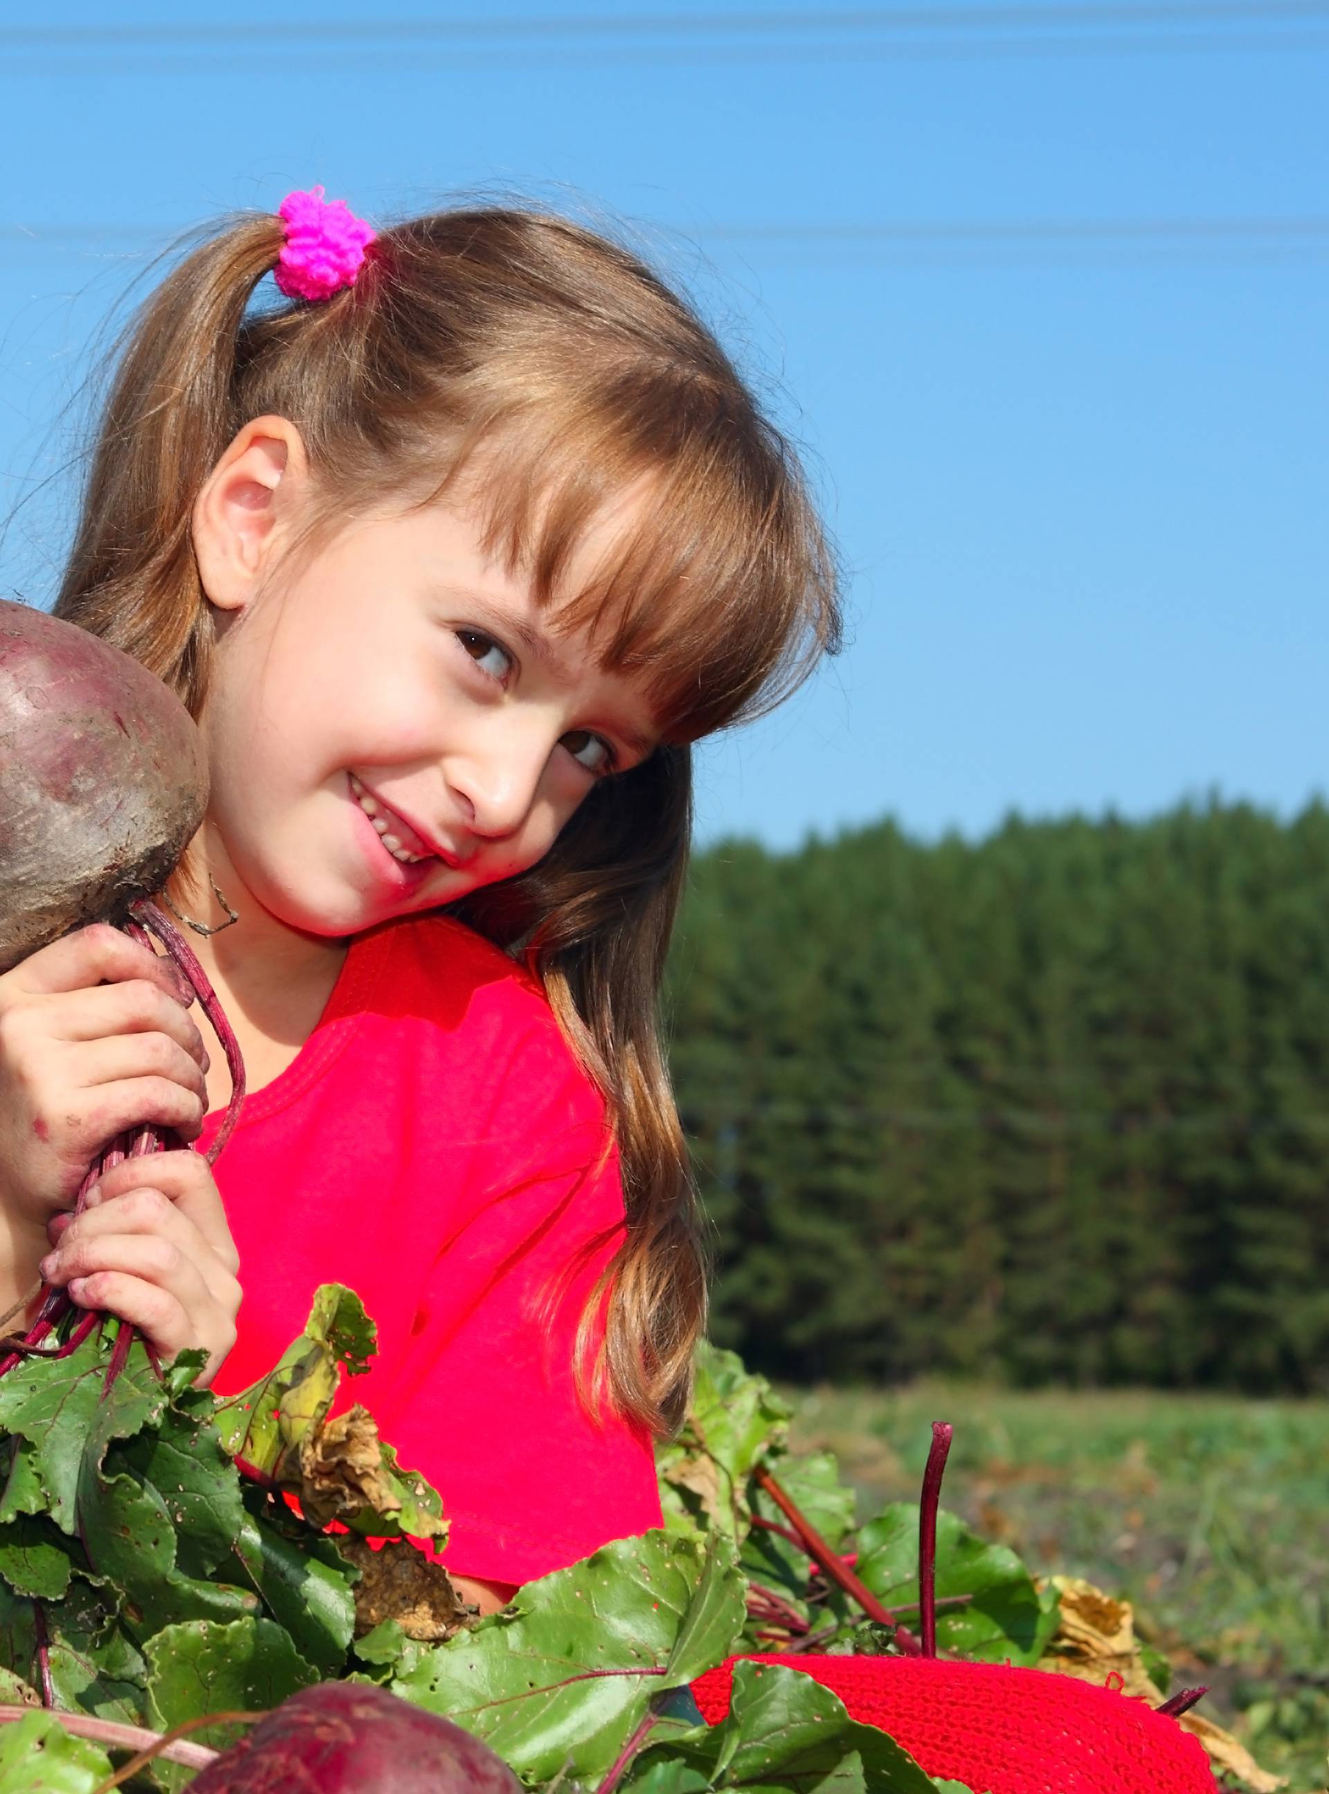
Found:
[[[194,501],[265,413],[301,431],[326,515],[430,502],[461,475],[486,547],[606,667],[644,680],[664,745],[592,788],[529,872],[457,911],[540,976],[604,1093],[626,1240],[578,1337],[578,1385],[671,1432],[707,1319],[707,1263],[656,999],[683,890],[698,736],[784,696],[839,640],[834,556],[795,452],[710,330],[637,255],[538,210],[456,208],[378,233],[326,303],[253,303],[276,215],[217,228],[126,332],[56,614],[201,712],[212,610]],[[628,488],[640,522],[594,590],[560,579]],[[594,1369],[588,1346],[604,1315]]]

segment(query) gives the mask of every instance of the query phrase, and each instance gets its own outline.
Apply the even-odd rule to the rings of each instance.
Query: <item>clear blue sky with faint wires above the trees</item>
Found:
[[[703,753],[703,838],[1295,811],[1325,788],[1329,5],[789,11],[404,0],[432,36],[375,39],[366,0],[228,0],[181,41],[133,36],[176,5],[14,0],[0,590],[50,588],[56,407],[174,230],[314,181],[371,219],[563,197],[698,294],[848,572],[847,653]]]

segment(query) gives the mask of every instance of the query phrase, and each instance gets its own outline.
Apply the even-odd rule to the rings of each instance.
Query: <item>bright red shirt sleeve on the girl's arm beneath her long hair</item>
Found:
[[[475,1195],[450,1211],[373,1406],[443,1498],[447,1568],[527,1582],[662,1516],[649,1430],[588,1414],[574,1380],[583,1306],[624,1236],[603,1102],[552,1017],[491,1089],[470,1141]]]

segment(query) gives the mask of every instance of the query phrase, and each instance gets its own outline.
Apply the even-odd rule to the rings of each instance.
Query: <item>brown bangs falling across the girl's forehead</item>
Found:
[[[836,651],[838,572],[791,502],[786,454],[759,479],[732,436],[680,431],[678,414],[667,445],[642,441],[640,411],[558,432],[531,422],[472,438],[448,484],[473,465],[486,551],[531,581],[554,633],[583,630],[606,671],[640,682],[665,741],[773,709]],[[578,549],[606,522],[574,585]]]

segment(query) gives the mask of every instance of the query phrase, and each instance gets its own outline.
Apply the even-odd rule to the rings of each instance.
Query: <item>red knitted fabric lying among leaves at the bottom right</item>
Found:
[[[735,1661],[692,1683],[712,1726],[730,1710]],[[811,1652],[751,1661],[805,1670],[929,1776],[951,1776],[976,1794],[1218,1794],[1203,1746],[1175,1719],[1073,1676]]]

